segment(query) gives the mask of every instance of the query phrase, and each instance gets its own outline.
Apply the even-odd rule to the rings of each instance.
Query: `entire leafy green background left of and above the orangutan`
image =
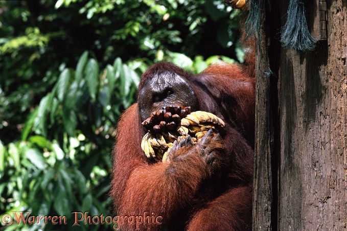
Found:
[[[157,61],[193,73],[243,59],[219,1],[0,1],[0,211],[112,215],[114,126]],[[230,57],[230,58],[228,58]],[[1,216],[2,214],[0,214]]]

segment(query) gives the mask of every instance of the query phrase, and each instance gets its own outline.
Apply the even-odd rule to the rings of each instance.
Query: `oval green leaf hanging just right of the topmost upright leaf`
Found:
[[[92,100],[95,100],[99,85],[99,66],[95,59],[89,59],[84,74],[87,80],[89,95]]]

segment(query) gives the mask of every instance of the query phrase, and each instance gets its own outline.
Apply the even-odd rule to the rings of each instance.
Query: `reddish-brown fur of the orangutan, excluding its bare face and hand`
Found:
[[[210,144],[223,151],[217,174],[212,174],[198,147],[183,147],[182,161],[152,163],[141,150],[145,130],[137,104],[127,109],[117,128],[111,195],[120,216],[141,216],[144,212],[163,217],[162,224],[141,224],[140,230],[248,230],[251,228],[253,144],[255,131],[255,79],[253,63],[215,64],[198,76],[184,73],[170,63],[158,63],[143,75],[177,72],[191,83],[199,108],[225,121],[222,141]],[[134,230],[136,224],[123,224]]]

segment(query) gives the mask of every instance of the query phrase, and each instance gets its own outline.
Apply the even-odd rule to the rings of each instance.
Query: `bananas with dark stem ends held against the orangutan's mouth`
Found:
[[[142,125],[148,130],[144,135],[141,148],[148,158],[166,161],[166,156],[178,137],[192,136],[193,144],[213,129],[218,132],[224,122],[206,111],[191,112],[191,107],[169,105],[152,112],[151,117]]]

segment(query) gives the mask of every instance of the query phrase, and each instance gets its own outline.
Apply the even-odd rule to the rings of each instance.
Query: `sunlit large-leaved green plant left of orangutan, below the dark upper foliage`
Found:
[[[114,125],[135,100],[144,65],[118,58],[100,72],[85,52],[75,70],[62,69],[31,113],[22,140],[0,144],[2,211],[66,216],[69,224],[72,211],[112,214],[107,193]],[[50,225],[33,228],[66,228]]]

